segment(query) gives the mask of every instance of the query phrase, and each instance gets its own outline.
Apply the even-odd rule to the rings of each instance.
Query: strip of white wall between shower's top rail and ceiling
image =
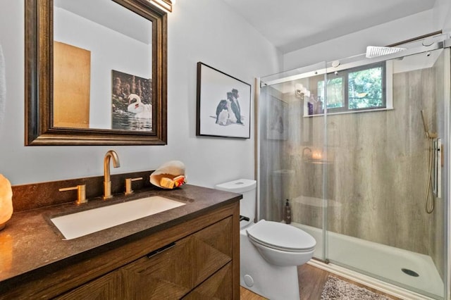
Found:
[[[434,25],[433,16],[431,9],[292,51],[284,55],[284,70],[363,54],[366,46],[386,46],[442,29]]]

